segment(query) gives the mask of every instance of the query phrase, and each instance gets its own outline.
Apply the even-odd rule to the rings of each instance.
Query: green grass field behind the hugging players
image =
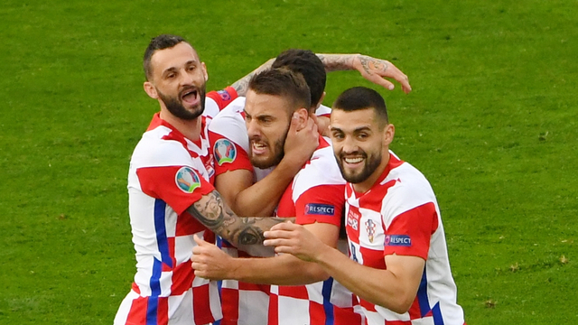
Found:
[[[391,60],[393,150],[433,184],[469,324],[578,323],[576,1],[5,0],[0,324],[107,324],[130,288],[142,55],[181,34],[224,88],[287,48]]]

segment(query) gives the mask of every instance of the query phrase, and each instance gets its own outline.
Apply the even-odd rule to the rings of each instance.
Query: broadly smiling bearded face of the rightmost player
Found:
[[[333,153],[343,178],[353,183],[356,190],[371,188],[389,161],[394,126],[380,127],[372,108],[350,112],[333,109],[330,130]]]

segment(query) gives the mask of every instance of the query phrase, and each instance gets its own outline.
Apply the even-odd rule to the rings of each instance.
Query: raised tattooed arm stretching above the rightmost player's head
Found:
[[[358,70],[361,76],[384,88],[392,90],[394,84],[384,78],[395,79],[405,93],[412,90],[407,76],[387,60],[372,58],[362,54],[317,54],[327,72]]]

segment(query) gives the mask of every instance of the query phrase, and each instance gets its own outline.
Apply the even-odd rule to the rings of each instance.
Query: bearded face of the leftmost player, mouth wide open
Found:
[[[151,78],[144,90],[161,104],[161,110],[183,120],[192,120],[205,107],[207,69],[197,52],[186,42],[154,51]]]

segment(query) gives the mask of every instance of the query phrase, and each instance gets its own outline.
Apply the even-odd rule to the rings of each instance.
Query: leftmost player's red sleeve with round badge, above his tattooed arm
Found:
[[[189,166],[144,167],[136,175],[145,194],[165,201],[179,215],[215,190]]]

